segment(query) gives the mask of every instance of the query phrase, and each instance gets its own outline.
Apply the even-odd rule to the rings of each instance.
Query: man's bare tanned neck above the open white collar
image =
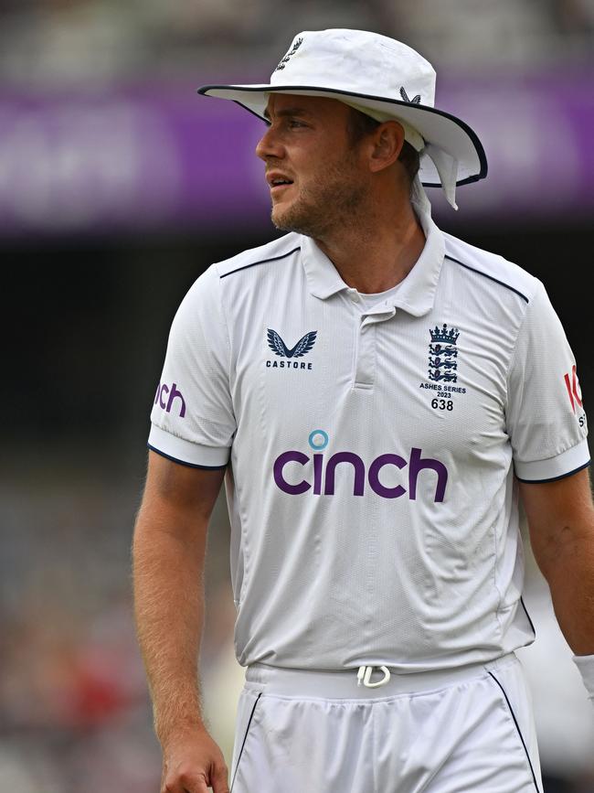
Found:
[[[345,284],[357,292],[373,295],[399,284],[425,246],[425,235],[408,199],[390,209],[397,210],[358,213],[348,225],[314,238]]]

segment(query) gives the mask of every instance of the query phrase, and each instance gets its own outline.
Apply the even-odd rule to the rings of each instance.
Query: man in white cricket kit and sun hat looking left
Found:
[[[201,89],[269,123],[289,233],[197,280],[155,396],[133,552],[162,791],[541,790],[518,490],[594,694],[575,361],[542,284],[431,220],[421,181],[455,206],[486,175],[434,84],[408,47],[327,30],[270,85]],[[224,476],[248,667],[230,778],[196,680]]]

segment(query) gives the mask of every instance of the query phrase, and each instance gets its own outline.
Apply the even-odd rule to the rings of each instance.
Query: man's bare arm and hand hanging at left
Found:
[[[133,540],[136,627],[163,747],[162,793],[228,793],[202,719],[197,677],[207,526],[224,469],[182,466],[149,452]]]

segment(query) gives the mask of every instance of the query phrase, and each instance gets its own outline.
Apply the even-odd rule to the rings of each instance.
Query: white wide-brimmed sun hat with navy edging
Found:
[[[454,209],[456,185],[487,175],[471,127],[434,106],[435,70],[414,49],[365,30],[306,30],[292,40],[269,84],[204,85],[198,93],[238,102],[266,121],[270,93],[324,96],[384,122],[402,123],[420,154],[419,180],[443,188]]]

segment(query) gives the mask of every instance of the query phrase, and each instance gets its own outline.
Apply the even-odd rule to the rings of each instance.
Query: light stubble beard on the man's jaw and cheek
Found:
[[[325,167],[324,173],[301,188],[297,198],[283,209],[272,206],[271,220],[281,231],[296,231],[323,240],[345,226],[358,225],[367,188],[357,177],[352,157]]]

